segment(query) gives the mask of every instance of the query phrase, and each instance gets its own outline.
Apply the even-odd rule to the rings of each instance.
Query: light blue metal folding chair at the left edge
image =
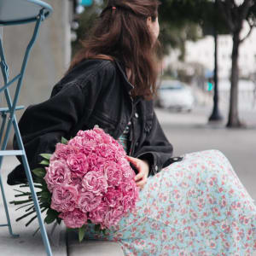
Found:
[[[7,201],[6,201],[6,197],[3,189],[3,182],[1,178],[1,167],[3,164],[3,156],[20,155],[24,169],[26,170],[26,177],[29,183],[29,188],[31,189],[31,192],[32,192],[32,199],[37,212],[40,231],[43,237],[44,247],[47,255],[52,255],[51,248],[49,246],[49,239],[48,239],[48,236],[44,227],[44,222],[41,216],[41,211],[38,204],[38,197],[36,195],[34,184],[32,181],[32,174],[30,172],[30,168],[26,159],[26,152],[20,137],[20,131],[19,131],[17,119],[15,116],[15,111],[23,108],[22,106],[17,107],[16,104],[20,96],[20,89],[21,89],[23,78],[24,78],[24,73],[26,70],[26,63],[27,63],[30,51],[32,49],[32,46],[37,39],[39,27],[42,21],[45,18],[47,18],[51,12],[52,12],[52,8],[49,6],[49,4],[39,0],[0,0],[0,30],[2,29],[3,31],[4,26],[16,26],[16,25],[21,25],[21,24],[26,24],[31,22],[35,23],[34,32],[32,34],[32,38],[29,44],[27,45],[24,59],[20,68],[20,73],[11,80],[9,80],[9,67],[5,61],[5,56],[3,51],[3,40],[2,40],[3,38],[1,37],[1,34],[0,34],[0,57],[1,57],[0,67],[3,74],[3,84],[0,84],[0,95],[3,95],[3,97],[7,102],[6,108],[0,108],[0,113],[2,116],[2,125],[0,128],[0,143],[1,143],[0,144],[0,147],[1,147],[0,187],[3,195],[3,205],[6,213],[7,224],[0,224],[0,227],[8,226],[10,235],[14,237],[18,236],[13,233],[10,218],[9,218],[9,210],[8,210],[8,205],[7,205]],[[15,94],[13,98],[10,96],[10,93],[9,93],[10,86],[12,87],[15,86]],[[8,116],[9,118],[7,118]],[[20,150],[6,150],[12,127],[14,128],[15,136],[17,137],[17,142],[19,144]]]

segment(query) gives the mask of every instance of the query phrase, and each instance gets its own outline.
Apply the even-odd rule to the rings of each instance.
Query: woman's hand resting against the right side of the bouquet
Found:
[[[144,185],[147,183],[149,165],[145,160],[140,160],[127,155],[127,160],[131,162],[133,166],[136,167],[138,174],[135,177],[135,182],[137,183],[137,187],[143,189]]]

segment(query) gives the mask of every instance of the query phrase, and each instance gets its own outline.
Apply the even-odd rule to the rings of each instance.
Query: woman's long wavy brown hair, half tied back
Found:
[[[109,0],[88,38],[80,41],[82,49],[74,55],[67,72],[84,59],[115,59],[131,70],[132,96],[152,99],[156,93],[156,52],[160,42],[154,42],[147,18],[156,20],[159,5],[158,0]]]

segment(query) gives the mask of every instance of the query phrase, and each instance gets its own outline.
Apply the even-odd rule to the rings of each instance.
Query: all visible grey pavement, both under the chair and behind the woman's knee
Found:
[[[207,105],[195,109],[192,113],[171,113],[156,109],[160,123],[166,137],[170,140],[174,148],[174,155],[185,154],[194,151],[218,149],[222,151],[230,160],[241,183],[244,184],[248,193],[256,199],[256,129],[226,129],[224,122],[207,124],[207,118],[211,113],[211,108]],[[1,170],[4,189],[8,201],[14,200],[14,188],[6,184],[6,177],[18,161],[15,157],[6,157],[3,160]],[[16,186],[17,187],[17,186]],[[18,189],[18,187],[16,188]],[[0,224],[6,223],[3,211],[3,201],[0,196]],[[11,256],[23,255],[46,255],[44,244],[40,234],[32,236],[34,230],[38,228],[38,221],[35,220],[31,226],[25,227],[26,220],[15,222],[20,217],[21,211],[15,211],[13,205],[9,205],[10,218],[13,230],[20,238],[11,238],[9,231],[5,227],[0,227],[0,254]],[[47,225],[48,234],[51,226]],[[67,235],[67,236],[66,236]],[[74,232],[66,234],[65,228],[59,226],[54,234],[49,236],[53,255],[72,256],[123,256],[124,253],[119,244],[109,241],[77,241],[77,234]],[[256,256],[256,253],[253,254]]]

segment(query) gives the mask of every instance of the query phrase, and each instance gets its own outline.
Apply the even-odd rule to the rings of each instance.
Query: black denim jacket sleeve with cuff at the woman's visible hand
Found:
[[[141,160],[148,160],[149,173],[148,176],[154,175],[163,167],[169,165],[172,158],[172,144],[166,138],[162,130],[156,114],[153,112],[152,127],[147,133],[147,137],[143,142],[135,157]]]

